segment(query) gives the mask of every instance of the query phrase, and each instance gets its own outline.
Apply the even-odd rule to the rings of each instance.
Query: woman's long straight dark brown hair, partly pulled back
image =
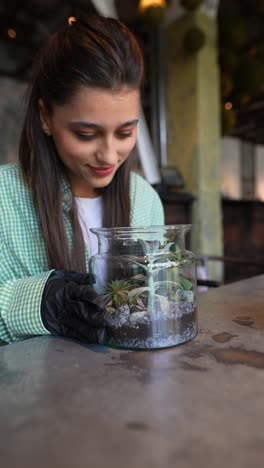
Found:
[[[140,89],[143,59],[139,44],[128,28],[112,18],[76,18],[65,25],[38,53],[29,86],[22,128],[19,161],[31,187],[50,268],[85,271],[85,249],[72,196],[68,220],[63,216],[62,179],[67,179],[53,139],[44,134],[39,117],[41,98],[52,113],[54,104],[66,104],[81,86],[118,90]],[[103,190],[105,227],[130,222],[129,178],[131,156]],[[71,239],[65,229],[71,229]]]

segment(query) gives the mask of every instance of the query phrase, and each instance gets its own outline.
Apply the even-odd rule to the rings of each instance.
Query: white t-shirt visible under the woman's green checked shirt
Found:
[[[91,257],[98,252],[98,241],[97,236],[89,231],[89,229],[92,227],[99,228],[103,225],[103,199],[102,197],[75,197],[75,200],[84,242]]]

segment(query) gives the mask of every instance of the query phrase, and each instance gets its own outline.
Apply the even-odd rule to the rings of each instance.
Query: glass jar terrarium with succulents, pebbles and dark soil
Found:
[[[106,344],[154,349],[197,333],[195,257],[185,250],[191,225],[92,228],[98,254],[90,272],[105,311]]]

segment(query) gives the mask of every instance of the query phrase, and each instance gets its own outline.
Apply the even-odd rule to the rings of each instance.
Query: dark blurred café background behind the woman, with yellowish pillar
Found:
[[[35,53],[80,10],[141,44],[140,168],[166,224],[193,224],[201,283],[263,273],[264,0],[2,0],[0,164],[17,160]]]

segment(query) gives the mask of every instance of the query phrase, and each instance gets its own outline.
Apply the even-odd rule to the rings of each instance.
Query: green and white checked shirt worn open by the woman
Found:
[[[66,213],[72,194],[62,184]],[[164,224],[164,212],[157,192],[138,174],[131,174],[131,226]],[[69,234],[70,235],[70,234]],[[31,191],[25,185],[18,164],[0,167],[0,342],[21,341],[49,334],[43,326],[40,305],[51,273]],[[89,254],[87,258],[87,269]]]

